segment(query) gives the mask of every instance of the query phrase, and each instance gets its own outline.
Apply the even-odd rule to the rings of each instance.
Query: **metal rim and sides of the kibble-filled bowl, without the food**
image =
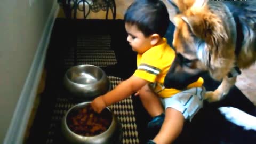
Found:
[[[65,114],[61,122],[61,132],[64,138],[69,143],[76,143],[76,144],[78,143],[81,143],[81,144],[82,143],[83,144],[121,143],[122,134],[123,134],[121,123],[118,121],[118,118],[114,115],[114,113],[109,108],[105,108],[102,111],[103,115],[106,116],[105,118],[108,118],[111,121],[110,126],[103,133],[95,136],[91,136],[91,137],[86,137],[83,135],[78,135],[69,129],[69,126],[67,124],[68,116],[74,113],[77,113],[78,110],[86,107],[87,105],[90,105],[90,102],[78,103],[77,105],[71,107],[67,111],[67,113]]]

